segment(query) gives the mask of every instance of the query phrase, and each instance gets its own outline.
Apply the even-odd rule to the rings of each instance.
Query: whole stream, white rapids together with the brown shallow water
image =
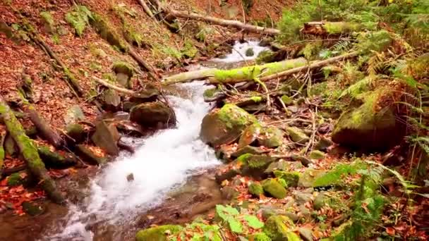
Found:
[[[246,56],[250,47],[254,56]],[[237,42],[231,54],[212,61],[246,61],[265,49],[257,41]],[[83,202],[68,204],[67,214],[52,221],[40,240],[134,240],[135,231],[147,224],[141,218],[145,214],[164,215],[176,206],[175,214],[181,216],[182,209],[193,205],[191,199],[213,205],[222,202],[214,178],[207,178],[207,171],[221,162],[214,149],[199,139],[200,123],[210,111],[210,104],[203,99],[208,87],[192,82],[175,88],[180,94],[168,99],[176,113],[176,128],[160,130],[145,139],[125,138],[136,147],[135,154],[122,152],[101,168],[91,178]],[[133,180],[128,181],[131,173]],[[164,221],[171,221],[166,218]]]

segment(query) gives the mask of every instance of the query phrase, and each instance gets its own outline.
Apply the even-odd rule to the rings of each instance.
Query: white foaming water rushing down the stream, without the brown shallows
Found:
[[[231,54],[216,61],[231,63],[255,58],[246,56],[249,47],[255,56],[265,49],[258,42],[237,43]],[[203,100],[207,87],[193,82],[179,88],[187,92],[184,97],[168,97],[176,113],[176,128],[140,140],[143,143],[135,154],[121,154],[105,166],[91,180],[90,195],[84,204],[70,204],[65,222],[56,224],[55,234],[43,240],[94,240],[95,234],[88,226],[97,222],[123,225],[162,204],[169,192],[186,183],[198,170],[219,165],[214,150],[199,139],[200,123],[210,109]],[[130,173],[134,180],[128,182]]]

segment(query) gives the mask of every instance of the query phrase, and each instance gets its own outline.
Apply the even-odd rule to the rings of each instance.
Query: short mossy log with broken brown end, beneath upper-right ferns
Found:
[[[361,30],[358,23],[349,22],[308,22],[301,32],[305,35],[342,35]]]

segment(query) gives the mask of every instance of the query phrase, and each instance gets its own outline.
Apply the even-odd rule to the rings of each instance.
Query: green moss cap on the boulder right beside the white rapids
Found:
[[[219,119],[225,123],[227,128],[243,128],[257,122],[255,116],[234,104],[226,104],[218,112]]]

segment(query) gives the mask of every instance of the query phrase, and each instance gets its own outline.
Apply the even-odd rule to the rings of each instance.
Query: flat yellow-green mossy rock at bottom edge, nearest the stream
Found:
[[[136,241],[167,241],[168,235],[179,233],[183,228],[180,225],[162,225],[138,231]]]

